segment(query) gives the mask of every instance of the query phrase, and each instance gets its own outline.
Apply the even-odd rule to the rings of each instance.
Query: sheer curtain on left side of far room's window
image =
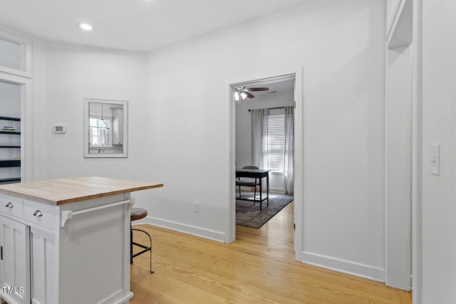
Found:
[[[264,169],[268,159],[268,109],[252,110],[252,165]]]

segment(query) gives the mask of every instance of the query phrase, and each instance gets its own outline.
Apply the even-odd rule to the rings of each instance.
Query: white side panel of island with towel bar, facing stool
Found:
[[[128,303],[130,292],[129,193],[59,206],[74,211],[59,229],[59,303]],[[100,206],[106,208],[98,209]],[[76,214],[77,211],[88,211]]]

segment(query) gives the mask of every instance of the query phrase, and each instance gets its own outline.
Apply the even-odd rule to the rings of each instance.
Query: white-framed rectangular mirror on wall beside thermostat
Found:
[[[128,102],[84,100],[84,157],[127,157]]]

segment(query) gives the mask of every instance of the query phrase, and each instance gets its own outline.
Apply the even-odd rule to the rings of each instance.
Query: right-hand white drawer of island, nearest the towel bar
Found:
[[[49,229],[55,229],[57,206],[24,199],[24,219]]]

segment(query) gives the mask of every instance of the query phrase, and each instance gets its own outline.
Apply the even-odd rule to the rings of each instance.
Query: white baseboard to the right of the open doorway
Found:
[[[302,262],[306,264],[385,283],[385,269],[382,268],[346,261],[340,258],[333,258],[331,256],[322,256],[306,251],[302,252],[301,257]]]

